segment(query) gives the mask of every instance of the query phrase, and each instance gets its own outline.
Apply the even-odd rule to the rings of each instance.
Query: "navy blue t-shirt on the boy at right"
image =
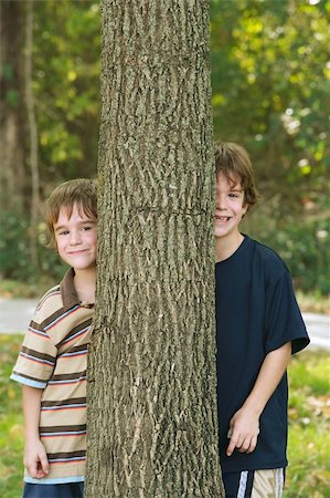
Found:
[[[259,419],[251,454],[225,452],[230,421],[249,395],[265,356],[287,342],[292,353],[309,343],[291,278],[272,249],[245,236],[238,249],[215,264],[217,408],[220,456],[224,471],[279,468],[287,465],[286,374]]]

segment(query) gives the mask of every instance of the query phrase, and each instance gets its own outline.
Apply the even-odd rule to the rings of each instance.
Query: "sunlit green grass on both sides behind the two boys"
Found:
[[[9,381],[22,341],[0,335],[0,497],[20,498],[23,417],[21,390]],[[284,498],[330,497],[329,354],[304,352],[289,366],[289,444]]]

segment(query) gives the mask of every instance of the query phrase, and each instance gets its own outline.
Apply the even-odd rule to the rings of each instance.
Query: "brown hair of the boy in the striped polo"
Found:
[[[46,201],[45,221],[50,234],[49,247],[56,248],[54,225],[58,219],[60,210],[64,208],[70,218],[74,205],[77,206],[81,214],[97,219],[97,186],[95,180],[76,178],[64,181],[53,190]]]

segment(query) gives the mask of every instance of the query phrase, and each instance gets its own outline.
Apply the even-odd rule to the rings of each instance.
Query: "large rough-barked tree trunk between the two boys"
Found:
[[[221,497],[209,2],[103,1],[87,498]]]

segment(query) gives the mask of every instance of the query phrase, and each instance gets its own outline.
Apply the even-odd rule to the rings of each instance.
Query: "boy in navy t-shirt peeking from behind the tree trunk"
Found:
[[[280,498],[287,466],[286,367],[309,339],[287,267],[272,249],[239,231],[257,200],[246,151],[217,144],[215,166],[217,404],[225,497]]]

